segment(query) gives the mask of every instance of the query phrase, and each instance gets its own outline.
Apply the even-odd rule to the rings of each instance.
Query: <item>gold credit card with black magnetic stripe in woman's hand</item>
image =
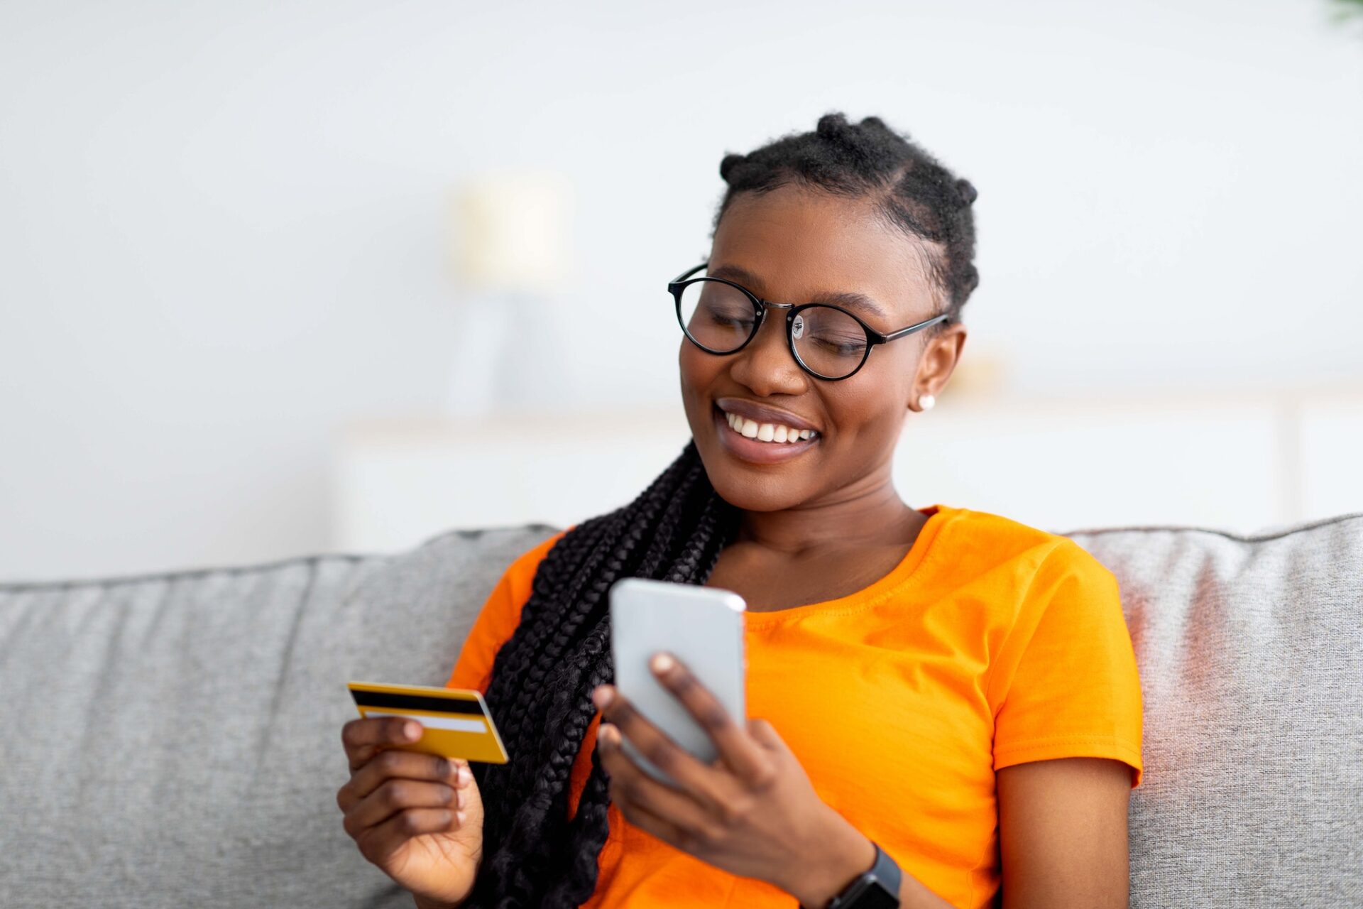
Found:
[[[395,748],[484,763],[507,762],[507,750],[481,691],[378,681],[346,685],[361,717],[410,717],[421,724],[420,739]]]

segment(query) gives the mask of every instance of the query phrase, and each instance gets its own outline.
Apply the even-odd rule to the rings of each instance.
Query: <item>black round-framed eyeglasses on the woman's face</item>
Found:
[[[706,353],[737,353],[758,335],[767,309],[785,309],[785,339],[791,356],[801,369],[826,382],[856,375],[875,345],[951,319],[942,313],[885,334],[842,307],[770,303],[726,278],[691,277],[707,266],[701,263],[668,282],[668,293],[676,300],[677,323],[691,343]]]

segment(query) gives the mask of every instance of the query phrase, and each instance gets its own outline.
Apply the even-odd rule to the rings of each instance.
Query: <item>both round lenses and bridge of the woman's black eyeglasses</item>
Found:
[[[679,315],[691,341],[711,353],[741,348],[756,322],[752,301],[721,281],[696,281],[683,288]],[[773,316],[785,320],[781,309],[767,313]],[[831,307],[808,307],[795,313],[791,342],[804,365],[827,379],[851,375],[866,358],[861,324]]]

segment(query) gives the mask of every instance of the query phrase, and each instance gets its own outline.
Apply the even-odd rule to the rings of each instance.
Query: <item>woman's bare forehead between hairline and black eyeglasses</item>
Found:
[[[891,318],[913,318],[934,309],[925,259],[921,241],[890,225],[870,200],[788,185],[733,199],[706,274],[728,267],[721,277],[776,303],[855,293]]]

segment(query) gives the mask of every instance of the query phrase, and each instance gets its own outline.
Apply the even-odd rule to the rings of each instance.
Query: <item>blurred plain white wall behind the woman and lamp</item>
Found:
[[[672,401],[720,158],[829,109],[980,189],[965,356],[1013,391],[1358,380],[1363,38],[1329,10],[3,3],[0,578],[326,551],[338,427],[443,406],[450,198],[491,168],[577,187],[566,341],[656,313],[544,405]]]

